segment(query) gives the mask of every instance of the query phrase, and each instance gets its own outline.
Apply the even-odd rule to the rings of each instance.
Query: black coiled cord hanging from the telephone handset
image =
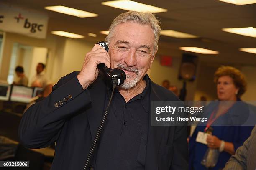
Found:
[[[90,162],[91,162],[91,159],[92,159],[92,156],[93,156],[93,153],[95,151],[95,148],[97,147],[97,144],[98,144],[98,142],[100,140],[101,132],[103,130],[103,127],[105,125],[105,122],[107,121],[107,117],[108,117],[108,114],[109,114],[108,107],[110,106],[110,103],[112,101],[112,97],[113,97],[113,94],[114,94],[114,91],[115,91],[115,87],[116,87],[117,84],[118,84],[118,81],[114,80],[113,81],[113,90],[112,90],[112,93],[111,93],[111,96],[110,96],[110,99],[109,99],[109,102],[108,102],[108,106],[107,106],[107,108],[105,110],[105,113],[103,114],[102,119],[100,121],[100,126],[97,129],[97,133],[96,133],[96,135],[94,137],[94,140],[92,142],[92,145],[91,145],[90,151],[88,153],[87,159],[85,161],[83,170],[87,170],[88,169],[88,167],[90,165]]]

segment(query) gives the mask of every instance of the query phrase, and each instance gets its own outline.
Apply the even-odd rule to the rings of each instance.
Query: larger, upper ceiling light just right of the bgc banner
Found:
[[[65,7],[65,6],[48,6],[48,7],[44,7],[44,9],[46,10],[52,10],[58,13],[64,13],[67,15],[73,15],[76,17],[80,17],[80,18],[85,18],[85,17],[97,17],[98,14],[95,13],[90,13],[87,11],[83,11],[83,10],[77,10],[74,8],[69,8],[69,7]]]

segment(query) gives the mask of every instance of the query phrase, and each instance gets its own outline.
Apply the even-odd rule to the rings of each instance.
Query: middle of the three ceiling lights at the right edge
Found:
[[[223,31],[229,33],[240,34],[243,36],[256,37],[256,28],[254,27],[244,27],[244,28],[222,28]]]

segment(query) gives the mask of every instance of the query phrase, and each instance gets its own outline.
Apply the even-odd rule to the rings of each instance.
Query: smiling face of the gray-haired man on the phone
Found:
[[[143,79],[154,60],[154,32],[149,25],[131,22],[117,25],[114,31],[109,44],[111,68],[125,71],[121,87],[130,89]]]

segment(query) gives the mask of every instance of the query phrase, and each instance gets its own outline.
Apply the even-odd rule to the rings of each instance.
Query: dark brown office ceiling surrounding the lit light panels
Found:
[[[48,33],[64,30],[87,36],[96,33],[97,38],[87,36],[88,41],[102,41],[110,23],[120,13],[118,8],[101,5],[104,0],[2,0],[10,5],[40,11],[49,15]],[[178,39],[161,36],[159,53],[180,57],[186,51],[180,46],[195,46],[219,51],[218,55],[200,56],[205,63],[235,63],[256,66],[256,54],[239,51],[238,48],[256,48],[256,38],[221,31],[221,28],[256,27],[256,4],[233,5],[218,0],[137,0],[139,3],[168,9],[155,13],[163,30],[177,30],[200,36],[197,39]],[[63,5],[99,14],[98,17],[78,18],[45,10],[45,6]],[[166,53],[166,51],[169,51]]]

